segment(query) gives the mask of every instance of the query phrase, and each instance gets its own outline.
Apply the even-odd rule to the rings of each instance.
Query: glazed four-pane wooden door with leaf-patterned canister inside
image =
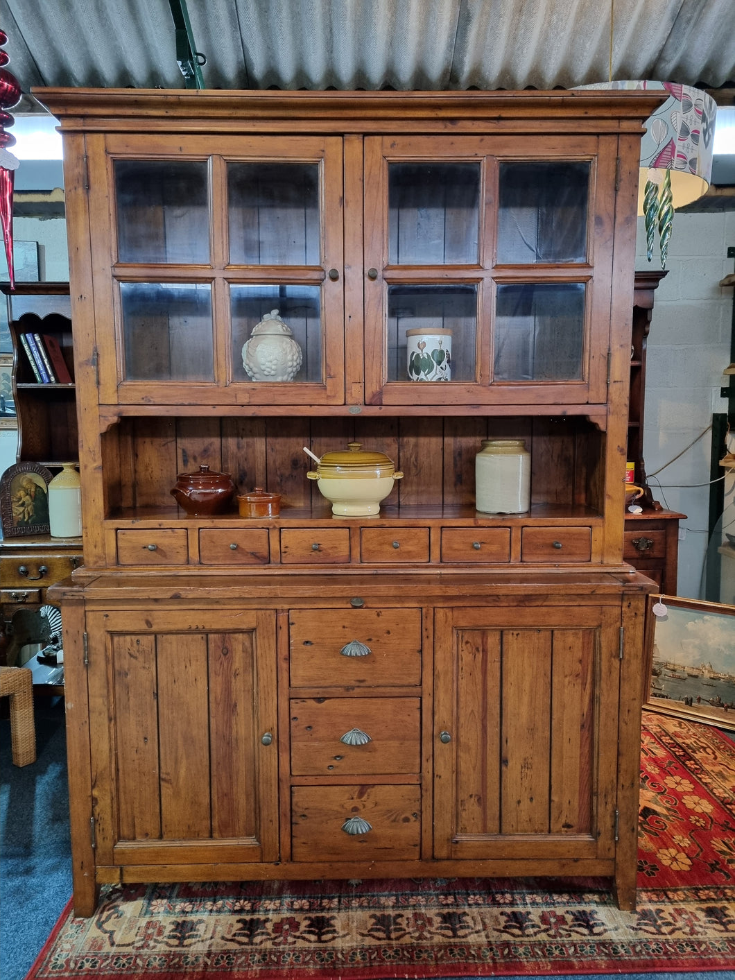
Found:
[[[616,152],[366,139],[368,403],[605,402]]]

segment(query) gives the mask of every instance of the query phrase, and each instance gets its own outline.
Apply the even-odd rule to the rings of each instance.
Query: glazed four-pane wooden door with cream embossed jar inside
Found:
[[[88,137],[101,401],[341,404],[341,138],[150,148]]]

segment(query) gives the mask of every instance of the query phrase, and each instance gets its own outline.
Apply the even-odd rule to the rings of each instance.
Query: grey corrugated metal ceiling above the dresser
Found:
[[[189,0],[207,88],[735,79],[734,0]],[[182,88],[169,0],[0,0],[31,86]]]

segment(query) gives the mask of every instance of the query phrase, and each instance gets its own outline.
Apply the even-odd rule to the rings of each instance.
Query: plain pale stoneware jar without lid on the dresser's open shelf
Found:
[[[483,439],[474,458],[474,506],[482,514],[524,514],[531,506],[531,454],[523,439]]]

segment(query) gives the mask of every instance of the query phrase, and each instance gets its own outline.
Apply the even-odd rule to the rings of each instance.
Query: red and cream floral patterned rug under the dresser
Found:
[[[105,886],[27,980],[388,980],[735,968],[735,744],[644,715],[638,910],[596,879]]]

